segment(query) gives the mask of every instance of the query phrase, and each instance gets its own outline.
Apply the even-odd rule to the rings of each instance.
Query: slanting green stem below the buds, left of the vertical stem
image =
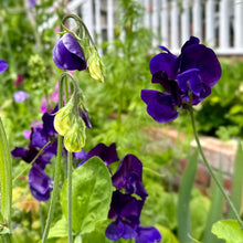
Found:
[[[55,208],[56,199],[59,196],[59,180],[60,180],[60,175],[61,175],[62,148],[63,148],[63,137],[59,135],[54,186],[53,186],[52,199],[51,199],[51,203],[49,208],[46,224],[45,224],[44,233],[42,235],[42,243],[45,243],[47,240],[50,226],[51,226],[52,219],[53,219],[54,208]]]

